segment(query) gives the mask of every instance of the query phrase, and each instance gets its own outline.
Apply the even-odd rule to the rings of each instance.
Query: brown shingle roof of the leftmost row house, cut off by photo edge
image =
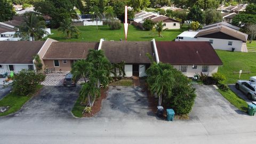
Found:
[[[0,41],[0,63],[33,63],[45,41]]]

